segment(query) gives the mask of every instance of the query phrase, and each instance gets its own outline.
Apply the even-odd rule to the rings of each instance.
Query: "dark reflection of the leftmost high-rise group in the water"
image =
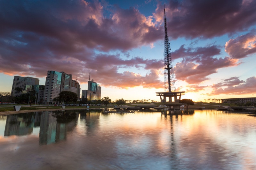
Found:
[[[39,144],[52,144],[66,140],[67,132],[76,126],[78,115],[71,110],[7,115],[4,136],[30,135],[34,127],[40,127]]]

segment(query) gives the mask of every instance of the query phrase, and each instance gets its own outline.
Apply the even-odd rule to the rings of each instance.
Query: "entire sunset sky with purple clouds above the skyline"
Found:
[[[194,101],[256,97],[256,0],[0,0],[0,91],[64,71],[101,98],[164,91],[164,4],[176,91]]]

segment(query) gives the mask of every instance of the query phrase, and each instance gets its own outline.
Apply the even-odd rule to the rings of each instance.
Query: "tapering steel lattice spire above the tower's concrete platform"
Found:
[[[176,92],[174,73],[172,67],[172,56],[169,38],[167,35],[165,7],[164,7],[164,92]]]

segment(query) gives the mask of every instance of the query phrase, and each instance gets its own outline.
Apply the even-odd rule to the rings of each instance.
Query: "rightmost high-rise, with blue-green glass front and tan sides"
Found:
[[[88,81],[87,100],[97,101],[101,99],[101,87],[96,82]]]

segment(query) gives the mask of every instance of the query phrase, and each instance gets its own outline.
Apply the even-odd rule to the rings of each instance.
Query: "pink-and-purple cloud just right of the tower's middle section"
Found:
[[[214,55],[218,54],[220,54],[220,49],[216,46],[186,49],[182,45],[172,53],[174,57],[183,58],[174,67],[176,79],[186,81],[189,84],[198,84],[208,80],[207,76],[216,73],[220,68],[237,65],[237,59],[214,57]]]

